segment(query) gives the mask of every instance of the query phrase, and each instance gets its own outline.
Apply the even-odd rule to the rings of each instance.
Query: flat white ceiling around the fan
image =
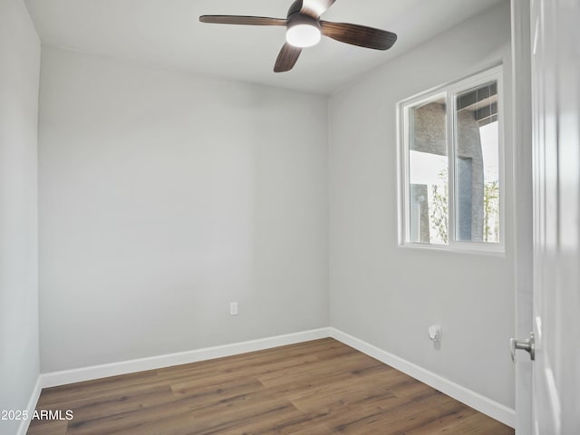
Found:
[[[41,41],[58,47],[245,82],[330,93],[474,14],[507,0],[337,0],[324,20],[398,34],[386,52],[324,38],[273,73],[285,28],[202,24],[198,15],[285,18],[293,0],[24,0]]]

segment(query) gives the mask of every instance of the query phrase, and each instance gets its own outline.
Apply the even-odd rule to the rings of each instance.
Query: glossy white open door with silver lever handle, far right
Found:
[[[578,435],[580,1],[532,0],[531,34],[533,433]]]

